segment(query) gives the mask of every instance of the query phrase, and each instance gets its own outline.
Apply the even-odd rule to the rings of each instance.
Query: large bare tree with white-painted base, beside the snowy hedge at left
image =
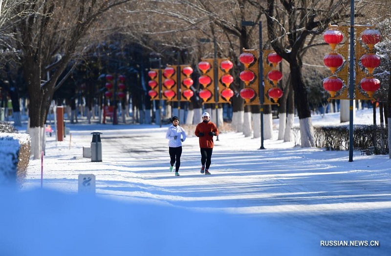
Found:
[[[26,0],[14,24],[29,93],[29,133],[34,158],[40,158],[44,124],[53,93],[66,66],[87,48],[89,32],[109,9],[135,0]],[[66,79],[65,76],[64,79]]]

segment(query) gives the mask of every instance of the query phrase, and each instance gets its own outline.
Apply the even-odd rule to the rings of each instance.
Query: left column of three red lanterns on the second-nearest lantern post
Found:
[[[239,56],[239,61],[243,63],[244,70],[240,72],[239,78],[244,82],[244,88],[240,90],[240,97],[244,99],[245,104],[259,104],[259,67],[258,58],[255,57],[256,51],[245,50]]]

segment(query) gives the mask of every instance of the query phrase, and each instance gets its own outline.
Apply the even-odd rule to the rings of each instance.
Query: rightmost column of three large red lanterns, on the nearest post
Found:
[[[373,46],[380,42],[381,36],[379,31],[374,29],[366,29],[361,34],[361,40],[368,45],[369,51],[364,54],[360,60],[361,64],[367,68],[369,75],[361,79],[361,88],[367,92],[369,98],[375,91],[380,88],[380,80],[373,77],[372,73],[375,68],[380,66],[380,57],[373,53]]]

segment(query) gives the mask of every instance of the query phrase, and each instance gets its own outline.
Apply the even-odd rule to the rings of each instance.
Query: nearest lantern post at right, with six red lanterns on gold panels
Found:
[[[381,40],[381,36],[373,27],[354,26],[354,0],[351,0],[350,26],[329,25],[329,30],[324,33],[324,39],[330,44],[332,50],[330,54],[326,55],[324,62],[330,68],[332,76],[324,79],[323,86],[330,92],[331,98],[349,99],[349,162],[353,161],[353,100],[372,99],[373,93],[380,88],[380,81],[375,79],[372,73],[373,69],[380,65],[380,57],[374,54],[373,46]],[[361,36],[364,46],[359,40],[356,40],[355,43],[354,32],[356,32],[356,35]],[[336,46],[342,42],[344,35],[345,37],[349,36],[349,39],[346,39],[343,46],[337,49]],[[345,63],[341,62],[341,57],[338,54],[345,58]],[[368,69],[369,75],[360,68],[358,60]],[[358,86],[358,81],[360,81],[360,87]],[[343,87],[342,82],[345,83],[346,88]],[[339,95],[335,96],[337,92],[339,92]]]

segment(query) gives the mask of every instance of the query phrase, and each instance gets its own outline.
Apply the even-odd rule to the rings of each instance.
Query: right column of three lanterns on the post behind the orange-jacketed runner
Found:
[[[234,81],[234,78],[229,74],[234,64],[229,59],[218,59],[218,102],[230,102],[229,100],[234,96],[229,86]]]

